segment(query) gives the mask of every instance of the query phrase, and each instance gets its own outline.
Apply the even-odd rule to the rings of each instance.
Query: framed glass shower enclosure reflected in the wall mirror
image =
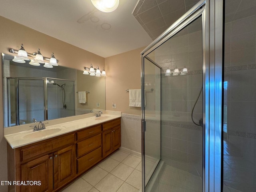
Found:
[[[8,125],[74,116],[74,81],[7,78]]]

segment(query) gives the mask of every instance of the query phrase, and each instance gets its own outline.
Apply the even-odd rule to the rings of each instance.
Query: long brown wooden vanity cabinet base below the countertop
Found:
[[[8,179],[40,181],[10,186],[15,192],[59,191],[121,145],[121,118],[12,149],[8,146]]]

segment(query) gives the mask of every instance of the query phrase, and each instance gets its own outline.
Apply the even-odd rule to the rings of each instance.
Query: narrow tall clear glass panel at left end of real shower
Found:
[[[144,59],[145,184],[160,161],[160,68]],[[147,190],[146,190],[147,191]]]

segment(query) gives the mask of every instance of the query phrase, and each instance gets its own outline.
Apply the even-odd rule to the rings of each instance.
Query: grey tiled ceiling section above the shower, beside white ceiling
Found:
[[[199,0],[139,0],[132,12],[154,40]]]

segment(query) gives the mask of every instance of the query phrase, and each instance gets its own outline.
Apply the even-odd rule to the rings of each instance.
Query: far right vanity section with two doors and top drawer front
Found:
[[[103,158],[121,146],[121,119],[112,120],[102,125],[102,156]]]

